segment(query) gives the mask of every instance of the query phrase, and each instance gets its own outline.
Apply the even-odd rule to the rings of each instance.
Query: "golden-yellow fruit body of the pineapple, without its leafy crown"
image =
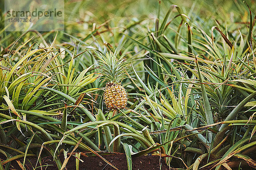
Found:
[[[107,83],[103,98],[108,109],[122,109],[127,105],[127,92],[121,84]]]

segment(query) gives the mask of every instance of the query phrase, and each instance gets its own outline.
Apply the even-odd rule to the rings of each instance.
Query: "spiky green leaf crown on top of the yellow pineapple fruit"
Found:
[[[98,62],[99,74],[103,75],[104,81],[111,83],[121,83],[126,77],[126,71],[128,71],[129,64],[125,61],[125,58],[121,57],[117,59],[119,51],[114,53],[110,51],[106,52],[106,56],[100,54]]]

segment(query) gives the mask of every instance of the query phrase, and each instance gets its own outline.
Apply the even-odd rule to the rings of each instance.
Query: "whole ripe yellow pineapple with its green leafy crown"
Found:
[[[107,81],[103,94],[105,105],[110,110],[125,108],[127,105],[127,92],[122,80],[125,79],[125,72],[128,70],[128,63],[122,57],[116,58],[117,52],[106,52],[106,56],[99,57],[99,73],[104,81]]]

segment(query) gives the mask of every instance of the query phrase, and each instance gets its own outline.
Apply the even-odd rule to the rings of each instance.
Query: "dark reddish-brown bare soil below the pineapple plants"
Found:
[[[106,160],[111,162],[119,170],[128,170],[127,161],[125,154],[122,153],[111,153],[108,155],[102,155]],[[60,156],[61,162],[64,161],[64,156]],[[84,162],[79,162],[79,170],[114,170],[109,164],[100,159],[98,156],[80,156],[80,159]],[[25,168],[26,170],[33,170],[35,168],[37,159],[30,157],[27,158]],[[21,164],[23,159],[20,159]],[[22,170],[18,165],[17,161],[12,161],[10,169]],[[43,170],[58,170],[55,163],[52,161],[52,157],[45,157],[42,159],[42,169]],[[133,170],[160,170],[160,158],[159,156],[141,156],[139,158],[132,159],[132,169]],[[170,168],[173,170],[172,168]],[[40,165],[37,165],[35,170],[41,170]],[[76,170],[76,158],[71,156],[66,170]],[[161,170],[169,170],[169,167],[161,160]]]

